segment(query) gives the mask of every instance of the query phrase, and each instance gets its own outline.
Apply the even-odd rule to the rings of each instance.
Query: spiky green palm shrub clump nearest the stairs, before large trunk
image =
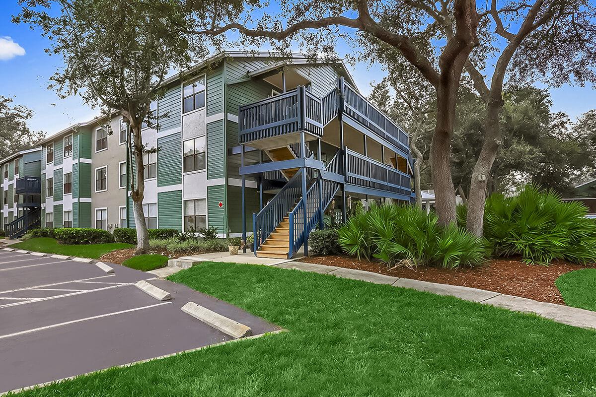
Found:
[[[373,206],[353,215],[338,234],[347,254],[374,257],[388,265],[456,268],[480,264],[486,257],[482,238],[455,225],[440,226],[436,214],[411,205]]]

